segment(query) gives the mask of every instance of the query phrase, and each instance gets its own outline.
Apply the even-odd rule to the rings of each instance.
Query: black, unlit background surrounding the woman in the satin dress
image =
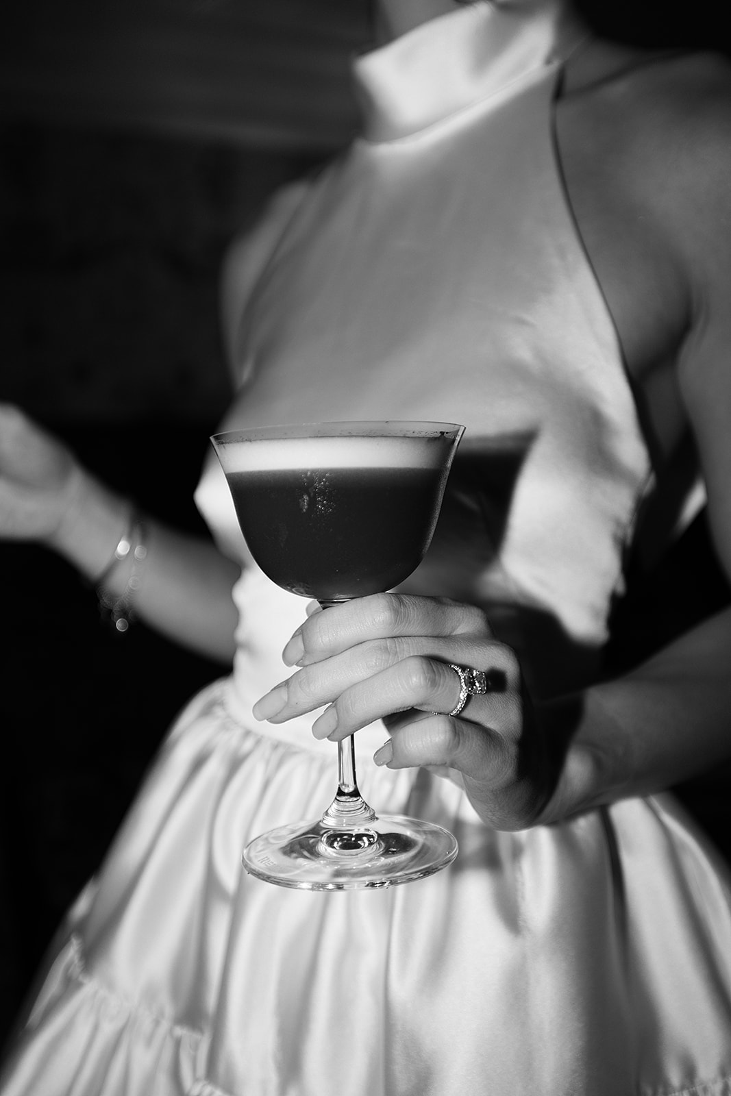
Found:
[[[0,42],[0,399],[168,521],[228,397],[221,256],[342,146],[356,0],[24,0]],[[175,468],[168,453],[175,438]],[[164,450],[163,450],[164,442]],[[728,598],[701,517],[618,607],[613,667]],[[136,624],[41,548],[0,541],[0,1039],[170,721],[226,667]],[[727,774],[684,790],[727,853]]]

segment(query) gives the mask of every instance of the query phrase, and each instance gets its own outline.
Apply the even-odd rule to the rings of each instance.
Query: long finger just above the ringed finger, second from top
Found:
[[[491,664],[493,646],[491,640],[476,640],[473,637],[455,640],[416,636],[372,640],[297,671],[262,697],[254,705],[253,713],[256,719],[285,722],[331,704],[358,682],[376,676],[412,655],[429,657],[446,664],[453,661],[469,666]],[[452,674],[453,692],[456,682],[459,696],[459,677],[454,671]]]

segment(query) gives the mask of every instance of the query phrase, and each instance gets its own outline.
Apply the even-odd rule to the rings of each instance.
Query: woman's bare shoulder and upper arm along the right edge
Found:
[[[569,76],[572,204],[666,452],[693,430],[731,574],[731,62],[598,43]]]

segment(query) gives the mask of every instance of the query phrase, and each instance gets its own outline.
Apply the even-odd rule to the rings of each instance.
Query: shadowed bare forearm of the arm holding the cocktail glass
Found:
[[[572,726],[550,820],[661,791],[731,756],[731,608],[545,711]]]

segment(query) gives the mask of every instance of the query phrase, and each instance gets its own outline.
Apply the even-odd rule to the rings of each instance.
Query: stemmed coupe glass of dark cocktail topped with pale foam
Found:
[[[323,607],[403,582],[429,548],[455,423],[330,422],[216,434],[213,445],[259,567]],[[302,890],[421,879],[457,855],[442,826],[377,817],[358,791],[353,737],[338,743],[338,792],[321,819],[279,826],[243,853],[251,875]]]

